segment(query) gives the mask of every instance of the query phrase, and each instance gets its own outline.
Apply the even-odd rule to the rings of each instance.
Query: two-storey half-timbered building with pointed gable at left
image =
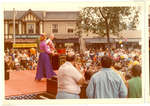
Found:
[[[75,36],[79,12],[4,11],[5,48],[36,47],[42,33],[55,35],[54,42],[79,46]],[[15,23],[15,24],[14,24]]]

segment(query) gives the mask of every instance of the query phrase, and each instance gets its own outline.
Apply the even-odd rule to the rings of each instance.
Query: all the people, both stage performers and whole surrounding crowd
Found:
[[[46,40],[46,36],[41,35],[40,50],[36,53],[22,49],[6,50],[8,69],[37,70],[36,80],[51,79],[56,75],[51,64],[51,55],[56,52],[51,37],[51,40]],[[66,48],[64,51],[66,62],[58,69],[57,99],[80,98],[80,87],[85,81],[88,81],[88,98],[142,97],[140,49],[110,47],[80,52]]]

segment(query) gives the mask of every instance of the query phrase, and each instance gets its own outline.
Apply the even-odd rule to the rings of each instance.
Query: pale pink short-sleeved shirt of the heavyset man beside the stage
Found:
[[[70,63],[65,62],[58,70],[58,91],[79,94],[80,85],[78,81],[82,74]]]

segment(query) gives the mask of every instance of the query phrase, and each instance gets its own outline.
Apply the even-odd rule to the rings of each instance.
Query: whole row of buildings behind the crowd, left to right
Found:
[[[37,47],[41,33],[54,34],[56,48],[72,46],[80,48],[80,40],[76,35],[76,21],[79,11],[4,11],[4,43],[7,48]],[[14,24],[15,23],[15,24]],[[122,31],[121,38],[110,35],[113,46],[122,44],[131,47],[141,42],[141,31]],[[105,47],[106,37],[93,33],[84,36],[87,48]]]

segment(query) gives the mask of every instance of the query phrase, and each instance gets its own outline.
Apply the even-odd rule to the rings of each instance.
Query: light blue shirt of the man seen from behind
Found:
[[[91,77],[86,95],[88,98],[125,98],[127,88],[116,72],[102,68]]]

